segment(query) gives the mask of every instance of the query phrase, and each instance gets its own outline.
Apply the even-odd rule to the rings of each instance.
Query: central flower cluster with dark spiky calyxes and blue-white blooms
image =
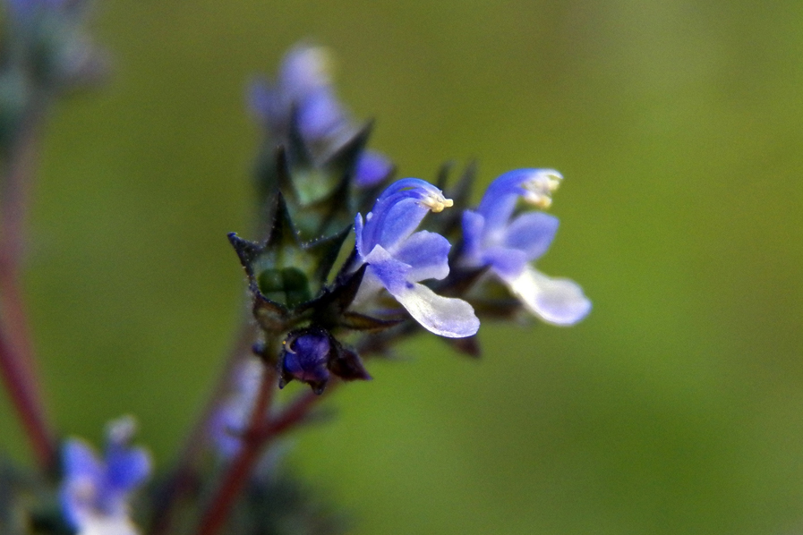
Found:
[[[362,358],[387,352],[415,327],[452,339],[473,336],[478,316],[491,317],[483,304],[498,282],[548,323],[584,318],[591,304],[580,287],[531,265],[550,246],[558,219],[518,209],[519,200],[549,208],[560,174],[503,174],[476,208],[466,202],[470,177],[452,188],[455,200],[441,190],[446,181],[393,182],[384,171],[391,166],[384,157],[372,164],[367,132],[353,126],[335,98],[326,58],[320,48],[296,47],[276,81],[252,89],[266,140],[278,144],[263,190],[271,224],[263,242],[230,236],[262,330],[258,353],[278,367],[280,386],[295,379],[320,393],[333,376],[369,378]],[[366,169],[373,167],[382,172],[369,181]],[[369,198],[366,183],[376,188]],[[439,220],[444,210],[462,212],[462,225],[454,217]],[[349,235],[354,246],[329,277]],[[455,251],[449,238],[460,244]]]

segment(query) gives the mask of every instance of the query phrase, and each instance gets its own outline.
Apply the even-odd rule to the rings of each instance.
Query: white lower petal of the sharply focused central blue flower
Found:
[[[436,335],[465,338],[476,334],[480,320],[462,299],[442,297],[423,284],[407,284],[393,296],[415,321]]]

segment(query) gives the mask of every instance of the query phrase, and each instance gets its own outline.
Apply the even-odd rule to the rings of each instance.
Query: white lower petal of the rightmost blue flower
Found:
[[[521,275],[503,279],[534,315],[553,325],[574,325],[591,310],[583,289],[568,278],[551,278],[527,266]]]

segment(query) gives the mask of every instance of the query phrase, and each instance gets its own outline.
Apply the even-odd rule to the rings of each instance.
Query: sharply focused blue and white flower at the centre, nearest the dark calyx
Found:
[[[436,335],[474,335],[480,321],[466,301],[442,297],[420,281],[448,276],[448,240],[428,231],[414,232],[430,211],[452,206],[431,183],[406,178],[391,184],[372,211],[355,218],[358,266],[369,266],[357,293],[359,307],[382,288],[423,327]]]

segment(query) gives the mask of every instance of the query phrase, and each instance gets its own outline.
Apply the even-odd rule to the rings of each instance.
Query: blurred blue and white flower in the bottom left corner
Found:
[[[129,518],[131,493],[148,478],[150,457],[129,446],[135,425],[121,418],[107,427],[106,456],[98,459],[91,446],[73,438],[64,444],[64,516],[78,535],[136,535]]]

